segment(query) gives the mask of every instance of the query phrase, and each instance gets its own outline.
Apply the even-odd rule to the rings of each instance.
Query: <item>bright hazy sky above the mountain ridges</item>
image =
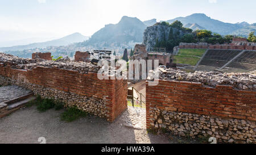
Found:
[[[224,22],[256,22],[255,0],[0,0],[0,41],[93,35],[122,16],[148,20],[204,13]]]

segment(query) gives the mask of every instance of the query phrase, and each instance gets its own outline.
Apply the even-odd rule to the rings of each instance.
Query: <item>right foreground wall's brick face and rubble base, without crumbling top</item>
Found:
[[[256,91],[201,82],[146,83],[148,129],[174,135],[216,137],[218,143],[256,143]]]

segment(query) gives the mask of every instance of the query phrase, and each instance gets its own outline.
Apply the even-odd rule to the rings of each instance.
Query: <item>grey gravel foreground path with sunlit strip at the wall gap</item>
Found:
[[[40,113],[32,106],[0,119],[0,143],[39,143],[39,137],[45,137],[46,143],[61,144],[178,143],[165,135],[147,133],[143,108],[129,107],[113,123],[94,116],[66,123],[60,120],[61,112]]]

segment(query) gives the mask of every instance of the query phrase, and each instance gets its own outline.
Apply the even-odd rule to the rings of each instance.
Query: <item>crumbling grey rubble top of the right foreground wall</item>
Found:
[[[155,71],[152,72],[155,74]],[[152,74],[150,76],[152,76]],[[149,79],[153,79],[152,77]],[[256,76],[248,73],[202,72],[187,73],[182,70],[160,68],[159,79],[167,81],[200,82],[202,85],[216,87],[217,85],[232,86],[237,90],[256,91]]]

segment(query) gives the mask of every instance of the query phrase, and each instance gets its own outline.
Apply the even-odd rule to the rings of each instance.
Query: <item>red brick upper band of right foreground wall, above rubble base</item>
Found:
[[[256,92],[234,90],[231,86],[204,87],[201,83],[159,80],[146,83],[146,118],[150,127],[150,108],[192,114],[256,121]]]

